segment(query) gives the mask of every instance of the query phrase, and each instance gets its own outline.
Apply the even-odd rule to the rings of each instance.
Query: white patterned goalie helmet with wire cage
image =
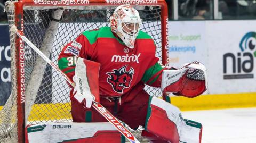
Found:
[[[111,31],[115,32],[124,44],[133,49],[140,31],[142,20],[139,12],[130,4],[118,6],[110,17]]]

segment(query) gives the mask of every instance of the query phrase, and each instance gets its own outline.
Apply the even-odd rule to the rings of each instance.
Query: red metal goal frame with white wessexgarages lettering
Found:
[[[117,6],[120,5],[118,3],[107,3],[108,0],[88,0],[89,3],[84,4],[78,4],[78,1],[81,0],[71,0],[73,3],[67,4],[53,4],[51,2],[59,2],[59,0],[52,0],[52,1],[44,1],[45,3],[41,4],[35,4],[33,0],[23,0],[18,1],[15,3],[15,26],[18,30],[21,31],[21,34],[23,35],[23,29],[24,29],[24,22],[23,22],[23,7],[25,6],[59,6],[59,7],[65,7],[65,6]],[[63,1],[63,0],[62,0]],[[70,0],[66,0],[70,1]],[[70,2],[71,2],[70,1]],[[127,0],[129,1],[129,0]],[[129,1],[129,2],[136,2],[136,1]],[[142,2],[142,4],[139,5],[158,5],[161,6],[161,29],[162,29],[162,64],[165,66],[168,66],[168,42],[167,42],[167,27],[168,27],[168,10],[167,10],[167,4],[165,0],[142,0],[139,1]],[[156,3],[146,3],[146,2],[156,2]],[[80,3],[80,2],[79,2]],[[131,3],[131,5],[137,5],[136,3]],[[17,61],[16,66],[17,69],[17,80],[18,80],[18,94],[17,94],[17,118],[18,118],[18,142],[22,143],[25,142],[25,52],[24,52],[24,43],[20,37],[17,36],[15,39],[15,51],[17,53]]]

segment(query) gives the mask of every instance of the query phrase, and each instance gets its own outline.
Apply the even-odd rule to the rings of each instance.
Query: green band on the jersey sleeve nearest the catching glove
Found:
[[[142,81],[144,83],[147,83],[148,80],[153,77],[157,72],[161,71],[163,68],[160,64],[156,63],[155,65],[151,66],[149,69],[146,70],[146,72],[144,73],[143,77],[142,77]],[[153,80],[153,82],[158,78],[158,76]],[[153,82],[150,82],[153,83]]]

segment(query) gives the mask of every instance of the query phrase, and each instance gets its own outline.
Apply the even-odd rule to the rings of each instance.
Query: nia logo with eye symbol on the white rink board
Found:
[[[256,32],[246,33],[239,43],[241,52],[223,55],[223,79],[253,78]],[[229,70],[229,71],[228,71]],[[231,72],[232,73],[228,73]]]

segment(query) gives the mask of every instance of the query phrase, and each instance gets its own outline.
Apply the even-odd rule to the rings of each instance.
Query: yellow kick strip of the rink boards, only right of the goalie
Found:
[[[256,93],[203,95],[195,98],[171,97],[181,111],[256,107]]]

